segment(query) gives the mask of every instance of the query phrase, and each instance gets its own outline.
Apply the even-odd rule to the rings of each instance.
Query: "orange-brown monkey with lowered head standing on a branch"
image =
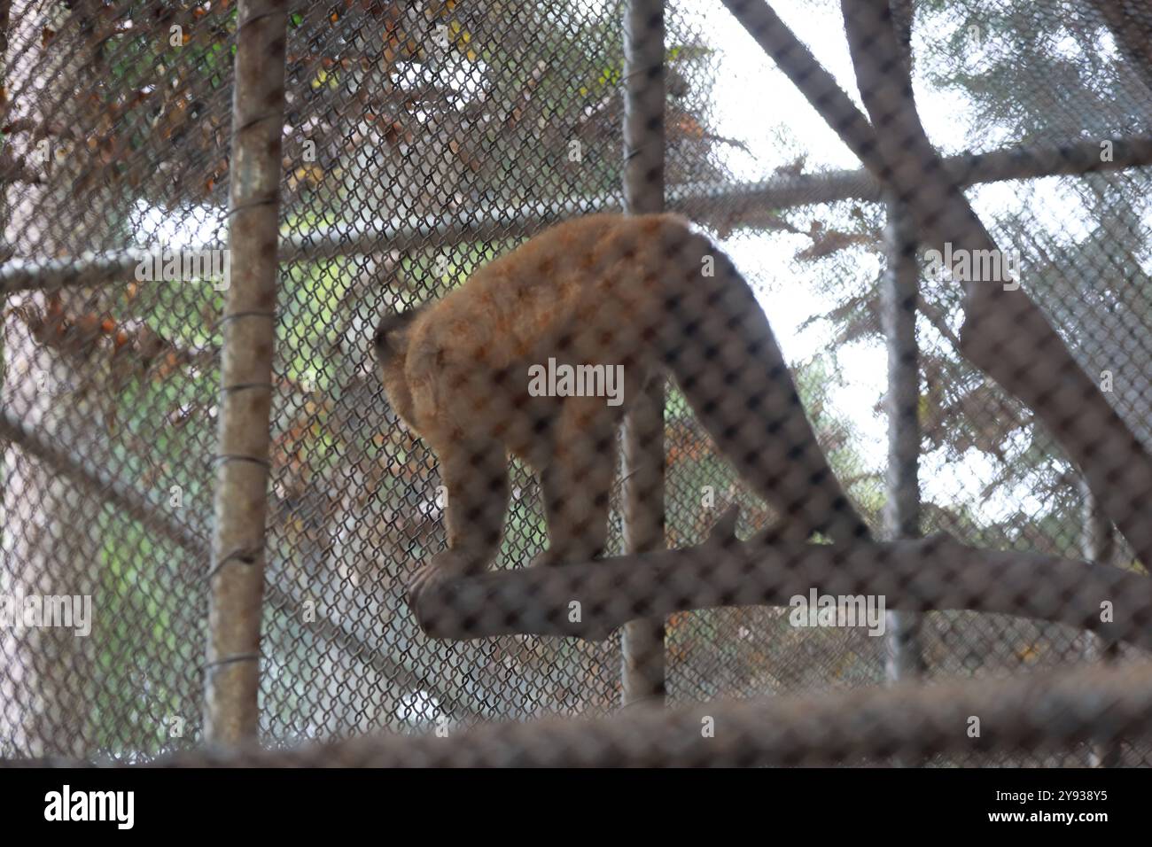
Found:
[[[437,454],[447,489],[448,549],[417,573],[410,604],[430,584],[491,566],[509,455],[540,481],[548,547],[532,565],[604,555],[617,426],[629,400],[665,373],[776,512],[772,537],[869,537],[752,288],[680,215],[598,213],[553,226],[441,300],[386,313],[373,348],[385,394]],[[619,402],[578,394],[571,380],[553,386],[551,376],[563,395],[539,391],[540,379],[533,386],[541,369],[564,365],[569,375],[621,373]]]

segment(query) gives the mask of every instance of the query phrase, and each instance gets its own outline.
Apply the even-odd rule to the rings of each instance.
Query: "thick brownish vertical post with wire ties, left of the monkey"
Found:
[[[241,0],[204,672],[204,733],[215,744],[255,738],[259,721],[286,39],[283,0]]]

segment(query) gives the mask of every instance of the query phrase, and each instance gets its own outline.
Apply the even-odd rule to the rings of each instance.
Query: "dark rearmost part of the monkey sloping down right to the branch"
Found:
[[[664,361],[736,471],[776,509],[782,532],[870,537],[812,426],[768,319],[732,260],[703,235],[666,228]]]

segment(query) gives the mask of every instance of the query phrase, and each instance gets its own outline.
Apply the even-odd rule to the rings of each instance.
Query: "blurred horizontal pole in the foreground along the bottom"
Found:
[[[1078,668],[1010,680],[819,691],[675,709],[639,705],[590,721],[488,724],[434,735],[351,738],[293,750],[207,749],[162,767],[736,767],[838,765],[939,754],[1068,750],[1152,734],[1152,666]],[[971,716],[980,734],[963,732]],[[702,738],[704,718],[714,738]],[[38,765],[68,765],[38,762]]]

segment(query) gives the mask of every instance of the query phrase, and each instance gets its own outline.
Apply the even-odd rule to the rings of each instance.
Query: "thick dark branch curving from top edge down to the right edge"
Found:
[[[961,187],[941,167],[908,86],[896,70],[900,48],[888,0],[841,0],[857,85],[872,123],[884,127],[878,176],[918,219],[925,240],[939,248],[1001,255]],[[1016,283],[964,281],[962,353],[1048,426],[1083,470],[1101,507],[1152,565],[1152,456],[1097,384],[1079,368],[1047,318]]]

